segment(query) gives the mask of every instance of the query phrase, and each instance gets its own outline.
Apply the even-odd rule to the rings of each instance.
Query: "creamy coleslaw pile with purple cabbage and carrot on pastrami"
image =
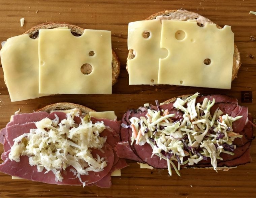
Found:
[[[235,138],[242,135],[233,132],[232,122],[242,118],[235,118],[223,115],[217,108],[213,115],[210,109],[215,103],[204,98],[202,104],[196,103],[199,93],[188,97],[186,100],[178,98],[173,106],[183,112],[183,117],[178,121],[171,118],[175,114],[169,114],[168,109],[151,110],[145,117],[130,119],[132,137],[131,145],[135,142],[144,145],[146,142],[151,145],[152,156],[159,156],[165,159],[168,165],[168,173],[172,174],[171,166],[180,176],[181,165],[192,166],[201,160],[211,158],[211,164],[217,171],[217,159],[222,160],[221,153],[234,155],[232,151],[236,145],[232,144]],[[173,163],[176,161],[178,167]]]

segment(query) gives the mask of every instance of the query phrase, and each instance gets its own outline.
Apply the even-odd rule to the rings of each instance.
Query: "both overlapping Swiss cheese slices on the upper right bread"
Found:
[[[154,84],[230,89],[234,53],[230,26],[199,27],[194,20],[161,23],[129,23],[128,49],[135,51],[135,58],[128,60],[130,85],[152,85],[152,78]],[[150,32],[150,37],[144,38],[143,32]],[[205,59],[211,63],[204,64]]]

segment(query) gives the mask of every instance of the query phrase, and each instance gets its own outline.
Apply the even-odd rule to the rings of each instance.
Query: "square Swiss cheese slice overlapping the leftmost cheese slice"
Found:
[[[89,52],[95,54],[89,56]],[[111,32],[85,30],[73,36],[70,30],[39,31],[39,93],[111,94]],[[90,64],[92,72],[81,72]]]

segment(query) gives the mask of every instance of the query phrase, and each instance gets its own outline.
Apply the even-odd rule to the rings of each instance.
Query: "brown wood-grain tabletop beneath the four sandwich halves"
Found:
[[[125,69],[127,58],[128,23],[139,21],[167,9],[187,9],[197,12],[220,26],[230,25],[241,55],[242,66],[231,90],[205,89],[182,86],[129,86]],[[255,9],[255,10],[253,10]],[[18,108],[32,112],[55,102],[73,102],[97,111],[114,110],[119,119],[128,108],[144,103],[160,102],[169,98],[200,92],[227,94],[248,106],[256,118],[256,100],[241,102],[241,91],[251,91],[256,98],[256,11],[254,0],[0,0],[0,41],[17,36],[44,22],[67,22],[86,29],[110,30],[112,46],[121,61],[118,83],[112,95],[55,95],[33,100],[11,102],[0,68],[0,128]],[[25,18],[24,27],[20,19]],[[184,57],[186,58],[186,57]],[[221,80],[221,79],[216,79]],[[26,89],[26,88],[24,88]],[[0,154],[3,152],[0,146]],[[168,176],[167,170],[140,169],[132,161],[122,170],[121,177],[112,178],[109,189],[81,186],[48,185],[28,180],[12,180],[0,173],[0,197],[256,197],[256,142],[251,145],[252,162],[229,171],[181,170]],[[2,162],[2,161],[1,161]]]

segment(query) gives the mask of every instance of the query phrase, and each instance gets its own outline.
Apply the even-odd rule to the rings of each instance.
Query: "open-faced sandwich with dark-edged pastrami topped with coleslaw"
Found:
[[[251,161],[252,116],[224,95],[185,95],[123,116],[117,155],[141,167],[228,170]]]

